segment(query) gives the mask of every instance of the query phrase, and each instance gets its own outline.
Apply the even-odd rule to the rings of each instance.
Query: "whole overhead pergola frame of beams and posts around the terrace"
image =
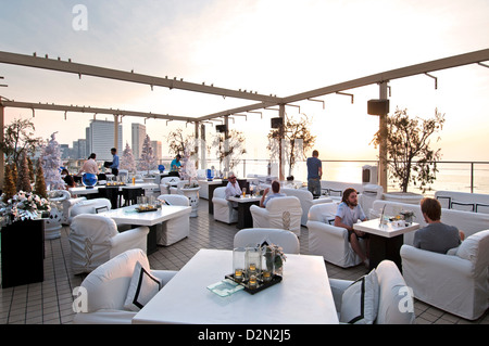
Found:
[[[73,105],[59,105],[59,104],[41,104],[34,102],[17,102],[10,101],[3,98],[0,98],[0,125],[4,126],[4,107],[20,107],[20,108],[30,108],[33,110],[33,114],[36,110],[49,110],[49,111],[60,111],[65,112],[74,112],[74,113],[88,113],[88,114],[111,114],[114,116],[114,146],[117,146],[117,126],[120,116],[135,116],[135,117],[145,117],[145,118],[155,118],[155,119],[166,119],[166,120],[180,120],[186,123],[193,123],[196,130],[196,139],[199,139],[199,130],[202,130],[202,136],[204,136],[203,127],[200,128],[200,125],[216,119],[224,119],[225,125],[225,138],[228,138],[228,119],[229,116],[233,115],[242,115],[242,113],[252,113],[258,110],[264,110],[272,106],[278,106],[278,116],[285,120],[285,106],[292,105],[294,102],[299,101],[322,101],[315,100],[314,98],[323,97],[331,93],[343,93],[347,90],[365,87],[368,85],[378,85],[379,86],[379,100],[388,100],[388,82],[393,79],[410,77],[414,75],[425,74],[428,77],[435,78],[429,73],[440,69],[447,69],[457,66],[464,66],[469,64],[479,64],[485,67],[489,67],[489,65],[484,64],[482,62],[489,61],[489,49],[484,49],[475,52],[469,52],[465,54],[454,55],[450,57],[439,59],[426,63],[421,63],[416,65],[411,65],[402,68],[391,69],[387,72],[383,72],[379,74],[352,79],[349,81],[331,85],[328,87],[292,94],[285,98],[279,98],[276,95],[265,95],[260,94],[258,92],[247,92],[241,90],[231,90],[225,88],[214,87],[213,85],[206,86],[204,84],[195,84],[184,81],[183,79],[177,78],[168,78],[168,77],[155,77],[136,74],[134,72],[124,72],[91,65],[84,65],[78,63],[73,63],[71,60],[67,62],[61,61],[60,59],[53,60],[46,57],[40,57],[34,55],[24,55],[16,54],[10,52],[0,52],[0,63],[3,64],[12,64],[20,65],[26,67],[34,68],[42,68],[49,71],[57,71],[70,74],[76,74],[80,78],[82,76],[92,76],[100,78],[108,78],[121,81],[128,81],[135,84],[148,85],[151,88],[153,87],[164,87],[168,89],[179,89],[199,93],[208,93],[214,95],[229,97],[236,99],[243,99],[250,101],[256,101],[256,103],[252,103],[249,105],[225,110],[214,114],[202,115],[200,117],[186,117],[178,115],[164,115],[156,113],[147,113],[147,112],[136,112],[136,111],[124,111],[124,110],[113,110],[113,108],[100,108],[100,107],[90,107],[90,106],[73,106]],[[387,115],[379,115],[379,131],[380,133],[387,132]],[[0,134],[0,140],[3,141],[3,131]],[[384,187],[384,191],[387,191],[387,166],[385,165],[387,158],[386,152],[386,142],[381,142],[379,145],[379,184]],[[198,150],[198,149],[197,149]],[[3,155],[0,158],[0,184],[3,185],[3,170],[4,170],[4,162]],[[280,179],[284,179],[283,174],[283,163],[279,164],[279,176]]]

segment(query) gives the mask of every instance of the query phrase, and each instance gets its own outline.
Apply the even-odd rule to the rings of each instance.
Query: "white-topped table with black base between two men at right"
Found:
[[[404,233],[419,229],[419,223],[396,226],[392,222],[380,225],[380,219],[372,219],[353,225],[354,230],[369,234],[369,269],[374,269],[384,259],[390,259],[402,270],[400,249],[404,243]]]

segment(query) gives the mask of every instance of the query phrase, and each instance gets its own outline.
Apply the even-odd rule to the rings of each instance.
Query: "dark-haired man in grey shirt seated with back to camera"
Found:
[[[441,205],[438,200],[425,197],[421,201],[423,217],[428,226],[414,233],[413,245],[435,253],[446,254],[460,245],[465,234],[456,227],[442,223]]]

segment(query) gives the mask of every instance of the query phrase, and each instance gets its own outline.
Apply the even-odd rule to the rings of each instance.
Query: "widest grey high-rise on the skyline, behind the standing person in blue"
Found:
[[[97,161],[112,161],[111,148],[114,148],[114,121],[91,120],[87,142],[90,153],[97,154]],[[123,148],[123,127],[118,124],[117,151]]]

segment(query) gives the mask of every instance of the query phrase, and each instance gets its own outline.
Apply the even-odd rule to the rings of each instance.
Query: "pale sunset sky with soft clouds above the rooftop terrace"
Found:
[[[86,10],[79,12],[77,5]],[[288,97],[394,68],[489,48],[487,0],[17,0],[0,1],[0,51],[184,78],[227,89]],[[79,15],[86,14],[85,17]],[[390,111],[411,116],[446,115],[432,138],[443,161],[489,161],[489,68],[477,64],[392,80]],[[0,64],[0,95],[9,100],[99,106],[180,116],[202,116],[255,101]],[[367,101],[378,86],[328,94],[286,106],[306,114],[322,159],[376,159],[371,144],[378,117]],[[60,143],[85,138],[92,114],[7,108],[5,124],[29,118],[38,136],[58,131]],[[268,158],[264,149],[274,110],[236,116],[230,129],[246,137],[247,158]],[[97,119],[113,120],[98,115]],[[151,140],[193,126],[123,117],[146,124]],[[208,141],[215,128],[206,126]],[[108,149],[109,150],[109,149]],[[306,153],[309,156],[311,153]],[[168,154],[170,155],[170,154]],[[211,153],[214,156],[214,153]]]

